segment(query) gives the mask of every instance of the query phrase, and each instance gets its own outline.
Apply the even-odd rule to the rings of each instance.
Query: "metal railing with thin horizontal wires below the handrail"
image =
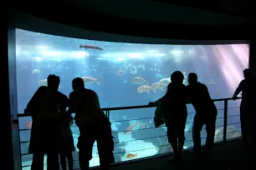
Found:
[[[218,107],[218,117],[216,120],[216,133],[214,141],[215,143],[226,143],[230,139],[239,138],[241,136],[239,129],[240,114],[238,102],[229,103],[229,105],[235,106],[228,107],[228,101],[230,100],[231,98],[213,100]],[[127,161],[137,160],[137,158],[151,158],[172,153],[172,148],[167,142],[166,127],[154,127],[154,107],[156,106],[142,105],[133,107],[103,108],[103,111],[105,112],[106,116],[110,118],[110,122],[112,123],[112,134],[115,137],[114,155],[116,163],[126,163]],[[131,112],[131,110],[140,111]],[[139,117],[139,115],[142,115],[140,112],[143,112],[143,110],[145,112],[143,115],[146,117]],[[118,112],[115,115],[116,111]],[[129,113],[127,111],[129,111]],[[119,117],[121,112],[126,112],[125,117]],[[188,112],[185,131],[187,138],[184,145],[185,149],[192,148],[192,120],[195,113],[196,112]],[[129,116],[129,114],[131,114],[131,116]],[[28,119],[28,122],[29,118],[31,117],[25,114],[18,114],[18,117],[21,167],[22,169],[29,169],[32,162],[32,154],[28,153],[30,128],[27,128],[26,125],[23,124],[26,121],[21,119]],[[139,128],[127,130],[128,127],[134,124],[141,126],[139,126]],[[137,127],[137,125],[135,127]],[[76,126],[72,126],[71,128],[74,133],[74,144],[76,145],[77,138],[79,136],[79,129]],[[202,146],[205,143],[205,139],[205,128],[202,128]],[[93,149],[93,158],[90,162],[91,167],[99,165],[99,156],[96,153],[96,145],[97,144],[95,143]],[[130,153],[130,157],[127,156],[128,153]],[[74,153],[74,168],[79,168],[77,152]]]

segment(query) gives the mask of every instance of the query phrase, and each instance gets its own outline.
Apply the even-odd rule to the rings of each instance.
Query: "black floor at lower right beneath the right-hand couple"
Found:
[[[253,157],[252,157],[253,155]],[[125,163],[111,167],[111,170],[153,170],[153,169],[256,169],[256,159],[252,149],[243,146],[240,139],[214,146],[211,162],[197,160],[192,153],[186,152],[182,163],[167,163],[171,156],[151,158],[134,163]],[[254,167],[253,167],[254,166]]]

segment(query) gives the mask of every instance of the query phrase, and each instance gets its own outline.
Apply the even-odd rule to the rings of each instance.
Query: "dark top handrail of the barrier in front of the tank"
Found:
[[[236,99],[241,99],[242,97],[237,97]],[[233,98],[218,98],[218,99],[212,99],[213,102],[219,102],[219,101],[226,101],[226,100],[232,100]],[[113,111],[113,110],[128,110],[128,109],[135,109],[135,108],[147,108],[147,107],[156,107],[151,105],[138,105],[138,106],[130,106],[130,107],[105,107],[102,108],[102,111]],[[25,115],[23,113],[18,113],[18,117],[28,117],[28,115]]]

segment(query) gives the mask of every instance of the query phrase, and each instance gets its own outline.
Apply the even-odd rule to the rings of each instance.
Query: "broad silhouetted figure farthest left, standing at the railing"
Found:
[[[47,82],[48,87],[39,87],[25,109],[33,120],[28,148],[28,153],[33,153],[32,170],[44,169],[44,154],[48,155],[48,169],[59,169],[59,147],[63,140],[61,123],[69,99],[58,92],[59,77],[49,75]]]

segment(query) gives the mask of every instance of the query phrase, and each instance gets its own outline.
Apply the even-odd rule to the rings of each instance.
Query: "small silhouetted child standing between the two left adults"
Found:
[[[71,125],[73,124],[73,117],[69,114],[64,117],[63,131],[64,131],[64,143],[60,149],[60,164],[63,170],[67,169],[66,158],[69,163],[69,170],[73,169],[73,156],[74,151],[74,139],[71,131]]]

